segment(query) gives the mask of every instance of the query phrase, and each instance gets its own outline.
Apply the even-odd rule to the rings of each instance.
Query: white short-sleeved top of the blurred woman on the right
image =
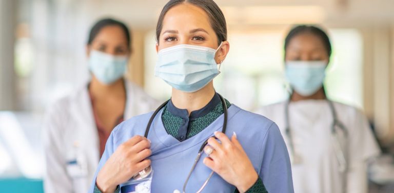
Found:
[[[293,153],[286,135],[286,102],[264,106],[256,113],[278,124],[290,157]],[[337,118],[348,132],[340,128],[342,149],[347,157],[347,172],[339,171],[338,159],[331,138],[332,113],[325,100],[302,100],[289,105],[290,131],[300,164],[291,163],[295,193],[367,192],[367,160],[379,155],[365,115],[351,106],[333,102]]]

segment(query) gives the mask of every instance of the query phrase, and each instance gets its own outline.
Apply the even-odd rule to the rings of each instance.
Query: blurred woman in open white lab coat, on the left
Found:
[[[44,123],[46,192],[87,192],[112,128],[157,106],[123,78],[131,54],[128,28],[106,18],[91,29],[91,80],[55,102]]]

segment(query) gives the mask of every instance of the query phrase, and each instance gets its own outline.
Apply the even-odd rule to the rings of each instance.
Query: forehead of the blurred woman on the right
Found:
[[[324,51],[326,52],[326,47],[324,46],[323,40],[312,33],[301,33],[292,37],[286,48],[287,51],[297,50],[297,51]]]

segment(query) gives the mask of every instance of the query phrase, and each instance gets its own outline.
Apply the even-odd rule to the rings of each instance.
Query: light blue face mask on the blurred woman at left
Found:
[[[92,50],[89,57],[89,70],[102,83],[110,84],[126,72],[127,56],[114,56]]]

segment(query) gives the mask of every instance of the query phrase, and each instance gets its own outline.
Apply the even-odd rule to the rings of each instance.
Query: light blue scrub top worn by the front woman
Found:
[[[224,116],[221,115],[199,134],[180,142],[167,134],[161,119],[162,112],[163,110],[154,118],[148,135],[152,151],[149,159],[152,161],[154,171],[151,192],[173,192],[175,189],[182,191],[202,143],[212,137],[214,131],[222,131]],[[133,117],[114,128],[108,138],[89,192],[94,191],[98,171],[116,148],[135,135],[144,136],[145,127],[152,114],[151,112]],[[233,132],[237,133],[237,139],[268,192],[294,192],[289,154],[277,124],[232,104],[228,109],[226,135],[231,137]],[[204,154],[193,170],[186,192],[200,189],[209,176],[211,169],[202,161],[205,157]],[[203,192],[234,192],[234,190],[233,185],[215,173]]]

